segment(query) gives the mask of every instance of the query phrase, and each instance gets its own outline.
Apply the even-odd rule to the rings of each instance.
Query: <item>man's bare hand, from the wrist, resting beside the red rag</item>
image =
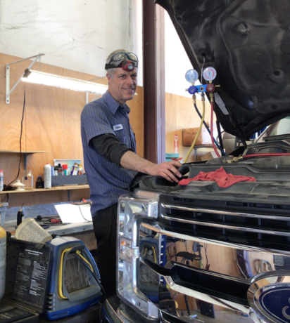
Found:
[[[146,168],[146,173],[152,176],[161,176],[169,180],[170,182],[175,181],[176,183],[178,183],[178,178],[182,177],[182,174],[177,170],[177,168],[179,168],[180,166],[182,166],[182,164],[177,161],[153,164],[149,165],[149,167]]]

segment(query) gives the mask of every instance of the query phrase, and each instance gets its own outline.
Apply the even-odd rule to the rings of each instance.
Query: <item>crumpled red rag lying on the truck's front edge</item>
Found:
[[[256,182],[256,178],[251,176],[236,176],[232,174],[227,174],[225,169],[220,167],[217,171],[210,171],[205,173],[201,171],[195,178],[187,178],[180,180],[178,185],[188,185],[191,180],[215,180],[220,187],[229,187],[238,182]]]

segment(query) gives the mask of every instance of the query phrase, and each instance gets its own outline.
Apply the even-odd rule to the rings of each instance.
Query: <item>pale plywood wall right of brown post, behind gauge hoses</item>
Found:
[[[199,112],[202,114],[202,103],[196,100]],[[165,93],[165,117],[166,117],[166,153],[174,152],[174,135],[179,136],[179,157],[185,158],[190,147],[182,146],[182,129],[195,128],[201,123],[194,103],[189,95],[188,98]],[[206,122],[210,123],[210,103],[206,102]],[[214,118],[215,122],[215,118]],[[198,156],[205,154],[206,149],[198,150]],[[187,162],[194,162],[194,152],[191,152]]]

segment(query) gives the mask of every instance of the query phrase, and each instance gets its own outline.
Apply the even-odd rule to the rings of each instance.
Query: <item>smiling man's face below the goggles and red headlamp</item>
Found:
[[[127,100],[134,98],[137,88],[137,71],[136,67],[130,72],[118,67],[115,69],[113,77],[107,73],[108,91],[121,105],[125,105]]]

